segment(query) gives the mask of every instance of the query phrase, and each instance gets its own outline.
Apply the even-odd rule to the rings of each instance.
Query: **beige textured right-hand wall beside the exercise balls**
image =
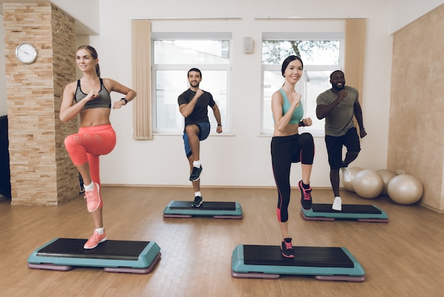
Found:
[[[396,31],[387,168],[416,176],[421,205],[444,212],[444,4]]]

